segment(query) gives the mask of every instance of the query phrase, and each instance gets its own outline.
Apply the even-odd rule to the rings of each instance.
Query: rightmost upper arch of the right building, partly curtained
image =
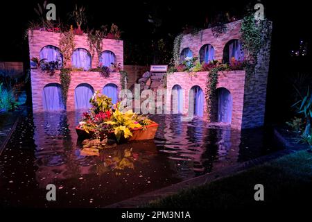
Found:
[[[244,60],[244,51],[240,40],[230,40],[223,49],[223,62],[229,63],[232,59],[236,61]]]

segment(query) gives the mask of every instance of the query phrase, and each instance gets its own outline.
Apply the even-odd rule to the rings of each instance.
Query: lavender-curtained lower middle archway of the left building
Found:
[[[94,94],[94,89],[87,83],[79,84],[75,89],[75,108],[76,110],[87,110],[91,108],[89,103]]]

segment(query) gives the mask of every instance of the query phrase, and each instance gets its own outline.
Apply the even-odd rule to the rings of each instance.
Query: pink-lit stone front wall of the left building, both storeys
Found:
[[[53,45],[58,47],[60,40],[60,33],[51,33],[46,31],[33,31],[29,33],[29,58],[40,57],[40,51],[44,46]],[[84,48],[89,51],[87,44],[87,36],[75,35],[74,42],[77,48]],[[116,55],[116,62],[123,67],[123,42],[121,40],[103,40],[103,51],[110,50]],[[70,62],[70,61],[69,61]],[[92,56],[92,67],[98,66],[98,55],[94,53]],[[42,112],[42,91],[45,85],[49,83],[60,83],[60,71],[56,71],[53,76],[49,76],[40,69],[31,69],[31,91],[33,100],[33,112]],[[121,89],[120,74],[111,73],[110,77],[104,78],[100,73],[94,71],[71,71],[71,84],[69,85],[67,110],[75,110],[74,92],[80,83],[87,83],[102,92],[103,87],[107,83],[114,83],[118,89]]]

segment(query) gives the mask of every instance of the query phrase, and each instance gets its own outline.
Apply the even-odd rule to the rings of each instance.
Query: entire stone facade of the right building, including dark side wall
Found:
[[[180,53],[189,48],[193,56],[200,56],[200,49],[205,44],[214,47],[214,60],[223,62],[224,49],[231,40],[241,40],[241,20],[225,24],[225,32],[216,33],[208,28],[199,33],[188,34],[182,37]],[[272,27],[272,24],[270,24]],[[217,34],[217,35],[216,35]],[[232,127],[236,129],[254,128],[263,126],[266,108],[266,88],[270,62],[270,39],[263,45],[258,55],[256,69],[247,76],[245,71],[229,71],[220,74],[218,88],[225,87],[233,96]],[[196,73],[197,77],[189,77],[187,73],[174,73],[168,75],[167,89],[173,85],[180,85],[182,89],[189,90],[198,85],[205,92],[207,73]],[[186,98],[187,100],[188,98]],[[206,101],[204,101],[206,103]],[[204,105],[205,111],[206,104]],[[207,114],[207,113],[206,113]]]

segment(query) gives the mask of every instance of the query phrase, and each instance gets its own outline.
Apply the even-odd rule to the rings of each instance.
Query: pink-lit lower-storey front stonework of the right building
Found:
[[[175,72],[167,76],[167,95],[171,94],[174,85],[180,85],[184,92],[184,110],[189,108],[189,89],[198,85],[203,93],[206,91],[207,71],[197,72],[196,76],[190,76],[185,72]],[[232,123],[231,127],[241,130],[243,118],[245,71],[220,72],[217,88],[224,87],[229,90],[233,97]],[[171,104],[171,96],[167,96],[166,104]],[[207,114],[206,100],[204,99],[204,110]],[[205,118],[205,117],[204,117]]]

